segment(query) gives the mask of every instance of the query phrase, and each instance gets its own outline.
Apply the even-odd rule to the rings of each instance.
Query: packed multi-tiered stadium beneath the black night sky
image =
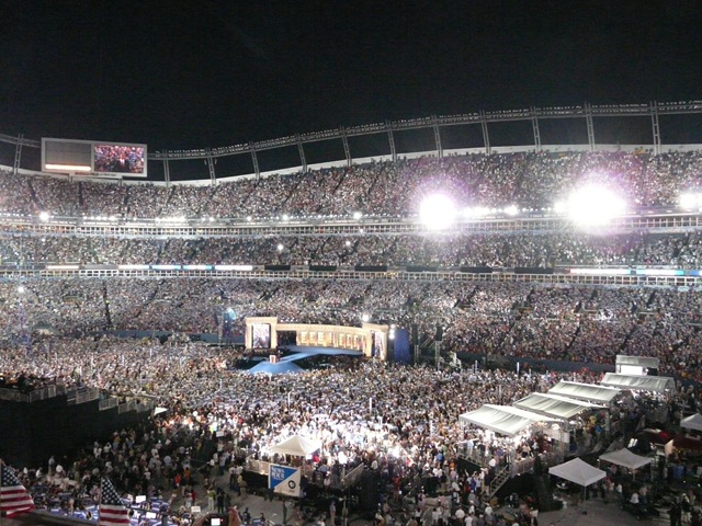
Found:
[[[179,524],[197,513],[180,490],[168,502],[174,477],[213,494],[219,477],[240,495],[230,469],[253,490],[269,462],[297,466],[312,495],[309,517],[296,507],[303,524],[332,491],[372,515],[385,488],[389,515],[424,500],[446,518],[462,504],[492,515],[523,491],[521,474],[642,441],[647,421],[694,450],[680,425],[698,411],[702,150],[664,142],[659,119],[701,113],[700,102],[532,107],[156,153],[2,136],[14,160],[0,176],[4,426],[23,414],[56,435],[10,433],[3,457],[70,462],[69,485],[53,456],[48,473],[19,472],[58,516],[93,519],[106,467],[118,491],[155,506],[123,501],[133,521]],[[596,140],[598,119],[641,116],[650,142]],[[562,118],[587,142],[542,144],[543,123]],[[526,123],[533,141],[495,146],[495,123]],[[456,146],[460,128],[482,145]],[[403,133],[433,141],[401,151]],[[387,151],[356,156],[353,139],[370,135]],[[344,158],[308,164],[329,140]],[[102,160],[138,148],[127,165],[148,181]],[[261,170],[279,148],[298,162]],[[83,156],[83,169],[75,156],[91,149],[100,164]],[[251,172],[227,173],[237,156]],[[191,161],[208,178],[170,180]],[[599,391],[563,399],[568,386]],[[494,411],[528,425],[500,426]],[[298,435],[313,445],[276,449]],[[151,453],[127,470],[132,448]],[[530,499],[557,507],[535,480]],[[202,507],[225,517],[224,493]]]

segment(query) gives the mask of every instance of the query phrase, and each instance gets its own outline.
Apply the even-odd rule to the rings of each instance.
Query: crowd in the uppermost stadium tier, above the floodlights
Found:
[[[3,173],[0,211],[58,216],[275,217],[407,216],[442,191],[458,206],[547,208],[589,181],[626,195],[630,206],[670,206],[697,188],[699,151],[525,152],[420,158],[235,180],[216,186],[69,182]],[[226,175],[226,174],[223,174]],[[401,190],[400,190],[401,188]]]

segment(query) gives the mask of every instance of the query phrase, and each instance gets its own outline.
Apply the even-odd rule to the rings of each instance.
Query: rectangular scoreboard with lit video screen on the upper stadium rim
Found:
[[[99,178],[146,178],[146,145],[42,138],[42,171]]]

